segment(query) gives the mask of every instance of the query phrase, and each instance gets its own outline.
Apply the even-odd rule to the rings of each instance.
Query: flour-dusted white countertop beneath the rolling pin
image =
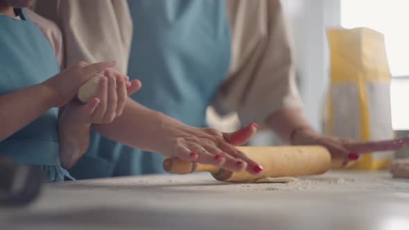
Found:
[[[328,172],[290,184],[209,174],[46,184],[31,206],[0,209],[0,229],[409,229],[409,179]]]

